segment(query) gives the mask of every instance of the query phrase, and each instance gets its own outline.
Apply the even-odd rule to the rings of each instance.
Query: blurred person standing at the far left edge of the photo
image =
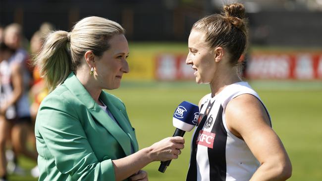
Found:
[[[16,156],[18,154],[24,154],[27,157],[37,161],[37,153],[35,150],[30,151],[27,149],[26,142],[30,127],[32,126],[30,103],[28,91],[32,83],[31,77],[31,64],[29,61],[28,53],[21,47],[22,40],[22,27],[19,24],[13,23],[8,25],[4,29],[4,43],[11,49],[15,50],[15,53],[7,59],[7,74],[11,76],[12,83],[15,75],[19,80],[16,84],[12,84],[12,105],[15,106],[16,115],[13,118],[14,121],[10,122],[11,126],[11,143],[14,151],[14,163],[8,169],[11,172],[17,172],[22,169],[17,166]],[[21,172],[20,172],[21,173]]]

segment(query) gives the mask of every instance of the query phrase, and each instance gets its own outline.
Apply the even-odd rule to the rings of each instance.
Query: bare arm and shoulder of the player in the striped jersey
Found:
[[[291,177],[290,159],[271,129],[260,100],[251,94],[239,95],[227,104],[225,114],[229,131],[245,140],[261,163],[251,181],[284,181]]]

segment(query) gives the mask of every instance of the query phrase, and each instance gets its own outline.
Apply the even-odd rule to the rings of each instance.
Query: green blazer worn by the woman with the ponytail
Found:
[[[71,73],[41,103],[35,135],[40,181],[114,181],[111,160],[138,143],[123,102],[102,91],[100,99],[118,126]]]

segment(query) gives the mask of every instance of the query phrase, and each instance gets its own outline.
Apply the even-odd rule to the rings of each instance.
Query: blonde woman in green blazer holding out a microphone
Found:
[[[178,158],[178,136],[138,150],[125,105],[103,90],[120,86],[128,54],[124,29],[105,18],[49,34],[36,58],[51,91],[35,126],[40,181],[147,181],[141,168]]]

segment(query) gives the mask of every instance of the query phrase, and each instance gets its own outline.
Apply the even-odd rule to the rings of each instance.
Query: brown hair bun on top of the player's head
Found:
[[[240,3],[227,4],[223,7],[224,16],[237,28],[245,26],[245,7]]]

